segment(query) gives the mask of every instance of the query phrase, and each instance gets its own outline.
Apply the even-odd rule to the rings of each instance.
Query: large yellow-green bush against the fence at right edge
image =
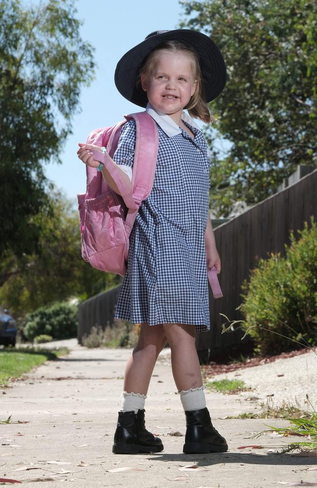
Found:
[[[317,345],[317,226],[313,218],[311,224],[311,229],[305,223],[298,231],[298,241],[291,232],[285,257],[277,253],[259,260],[249,283],[242,286],[243,327],[252,327],[249,334],[260,353],[294,349],[298,347],[294,341]]]

